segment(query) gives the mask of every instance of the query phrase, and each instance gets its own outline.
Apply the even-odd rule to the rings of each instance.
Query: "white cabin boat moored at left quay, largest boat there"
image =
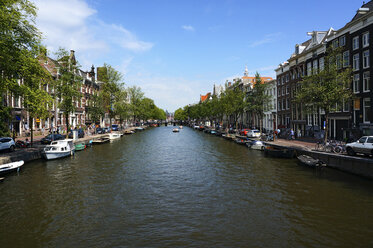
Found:
[[[48,160],[71,156],[74,153],[75,146],[72,139],[52,141],[43,151],[44,157]]]

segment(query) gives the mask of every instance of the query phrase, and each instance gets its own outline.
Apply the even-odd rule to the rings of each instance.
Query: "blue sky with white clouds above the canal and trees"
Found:
[[[360,0],[35,0],[44,44],[73,49],[83,70],[110,64],[157,106],[196,103],[215,84],[275,77],[309,31],[339,29]]]

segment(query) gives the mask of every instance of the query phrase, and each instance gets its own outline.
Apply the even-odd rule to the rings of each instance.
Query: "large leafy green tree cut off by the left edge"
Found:
[[[41,34],[35,26],[36,8],[28,0],[2,0],[0,4],[0,98],[22,96],[18,80],[35,68]],[[36,77],[38,75],[35,75]],[[0,99],[3,100],[3,99]],[[3,102],[3,101],[2,101]],[[10,109],[0,104],[0,134],[9,134]]]

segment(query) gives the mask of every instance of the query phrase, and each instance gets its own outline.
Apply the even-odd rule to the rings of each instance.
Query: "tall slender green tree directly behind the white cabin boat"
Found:
[[[80,101],[82,94],[82,78],[78,74],[78,64],[72,54],[60,48],[56,53],[59,63],[59,77],[55,82],[57,97],[60,100],[59,108],[63,111],[66,120],[66,135],[70,130],[69,116],[76,110],[76,102]]]

